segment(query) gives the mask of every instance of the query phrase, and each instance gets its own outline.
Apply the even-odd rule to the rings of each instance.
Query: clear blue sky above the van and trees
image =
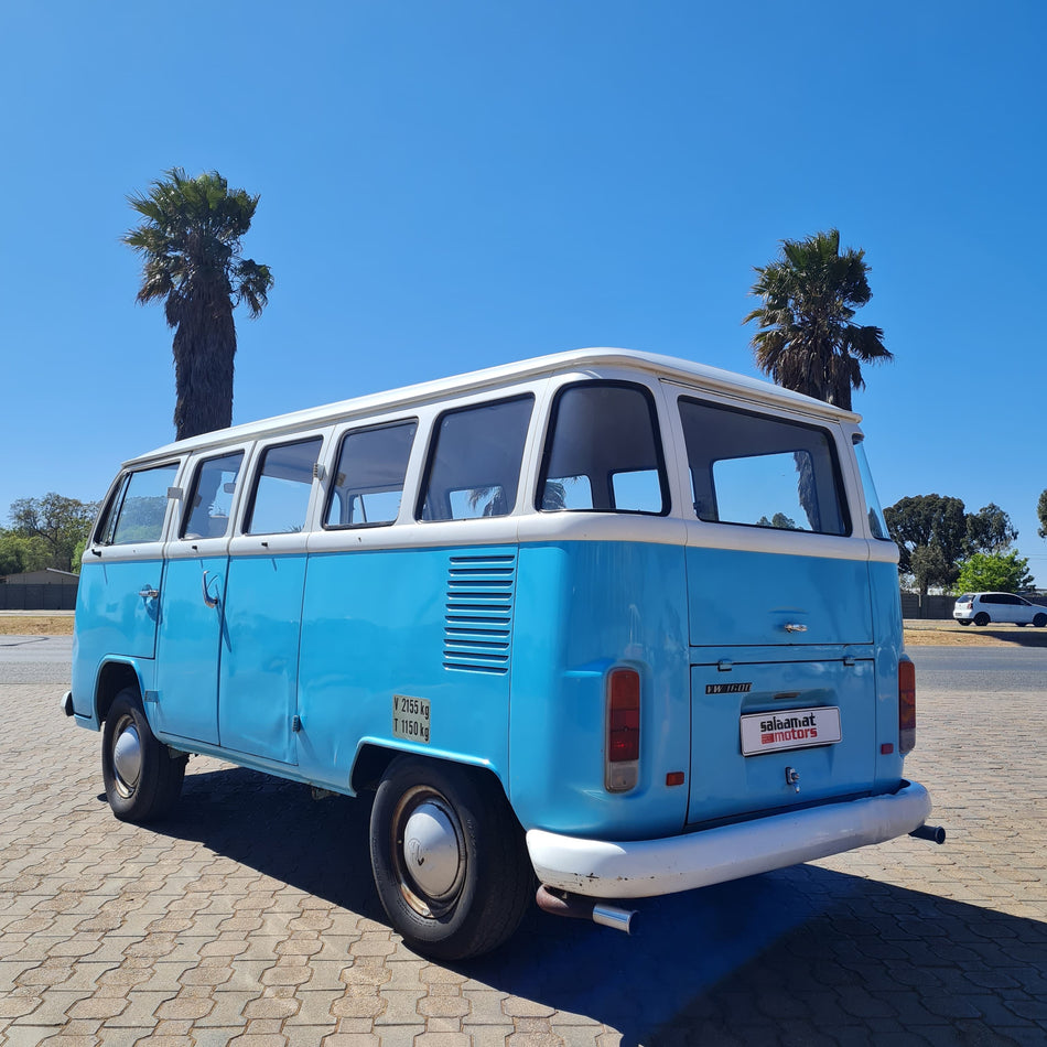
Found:
[[[1045,37],[1039,0],[4,3],[0,522],[173,438],[119,237],[181,165],[261,195],[236,421],[591,345],[755,374],[752,267],[836,226],[882,500],[995,501],[1047,585]]]

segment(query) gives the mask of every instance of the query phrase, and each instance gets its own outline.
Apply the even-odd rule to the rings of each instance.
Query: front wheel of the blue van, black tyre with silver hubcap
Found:
[[[166,813],[182,791],[187,760],[153,736],[133,688],[117,694],[101,734],[101,777],[120,821],[141,823]]]

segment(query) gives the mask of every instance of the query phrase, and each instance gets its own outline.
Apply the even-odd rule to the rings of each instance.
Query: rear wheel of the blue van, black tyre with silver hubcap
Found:
[[[371,809],[370,861],[393,929],[440,960],[500,946],[535,893],[524,831],[498,782],[439,760],[389,765]]]

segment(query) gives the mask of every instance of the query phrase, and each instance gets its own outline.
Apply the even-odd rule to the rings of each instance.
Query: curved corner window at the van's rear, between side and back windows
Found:
[[[538,508],[668,511],[666,466],[650,391],[585,381],[557,395]]]

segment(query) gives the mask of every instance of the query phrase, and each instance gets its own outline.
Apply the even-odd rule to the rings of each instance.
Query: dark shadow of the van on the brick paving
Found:
[[[305,786],[233,768],[187,775],[176,813],[156,829],[387,922],[368,813],[366,800],[317,802]],[[871,1030],[915,1044],[1043,1036],[1038,920],[813,865],[636,908],[629,937],[535,907],[497,952],[445,965],[601,1022],[624,1047],[872,1043]]]

